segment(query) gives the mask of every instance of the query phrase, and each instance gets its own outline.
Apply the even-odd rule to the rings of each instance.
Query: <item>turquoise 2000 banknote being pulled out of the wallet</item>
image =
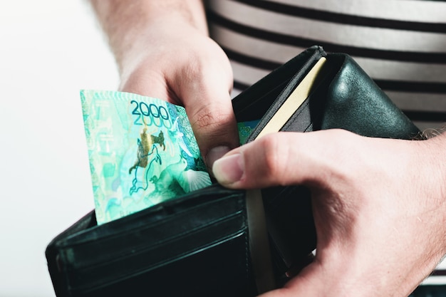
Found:
[[[211,184],[184,108],[115,91],[81,100],[98,224]]]

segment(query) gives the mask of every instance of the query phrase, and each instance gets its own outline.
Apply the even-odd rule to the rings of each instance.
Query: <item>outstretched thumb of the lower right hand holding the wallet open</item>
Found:
[[[212,170],[220,184],[234,189],[320,180],[324,163],[318,157],[323,145],[316,140],[316,132],[271,133],[224,155]]]

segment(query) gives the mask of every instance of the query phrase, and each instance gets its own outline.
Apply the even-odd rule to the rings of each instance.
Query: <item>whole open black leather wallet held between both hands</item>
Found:
[[[319,46],[266,75],[233,106],[239,122],[260,120],[248,141],[273,130],[341,128],[401,139],[420,132],[350,56]],[[249,192],[218,184],[100,226],[92,211],[48,244],[56,296],[256,296],[282,286],[286,271],[308,263],[316,246],[311,194],[272,187],[261,197],[263,244],[253,240],[259,228],[250,222],[257,215]],[[265,286],[261,273],[273,283]]]

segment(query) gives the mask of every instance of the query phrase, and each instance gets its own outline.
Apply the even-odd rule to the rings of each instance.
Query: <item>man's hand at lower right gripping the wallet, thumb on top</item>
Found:
[[[312,192],[316,258],[262,297],[408,296],[446,253],[445,147],[445,134],[279,132],[217,160],[226,187],[305,184]]]

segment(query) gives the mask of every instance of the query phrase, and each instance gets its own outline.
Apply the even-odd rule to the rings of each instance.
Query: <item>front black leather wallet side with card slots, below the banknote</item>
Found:
[[[254,296],[244,192],[207,187],[53,239],[57,296]],[[150,291],[150,294],[147,292]]]

